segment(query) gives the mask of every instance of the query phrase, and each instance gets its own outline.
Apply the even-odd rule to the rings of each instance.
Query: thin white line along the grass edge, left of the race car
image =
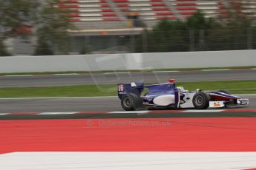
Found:
[[[75,98],[117,98],[117,96],[91,96],[91,97],[53,97],[53,98],[0,98],[0,100],[33,100],[33,99],[75,99]]]

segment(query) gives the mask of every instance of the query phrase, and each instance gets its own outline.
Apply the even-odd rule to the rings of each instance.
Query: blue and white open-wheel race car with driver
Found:
[[[227,90],[203,91],[197,89],[190,92],[183,86],[175,86],[175,80],[170,79],[165,84],[152,84],[145,86],[143,83],[117,84],[118,97],[121,106],[127,111],[143,107],[163,109],[207,109],[223,108],[227,106],[244,106],[249,104],[249,99],[232,95]],[[148,89],[142,95],[144,89]]]

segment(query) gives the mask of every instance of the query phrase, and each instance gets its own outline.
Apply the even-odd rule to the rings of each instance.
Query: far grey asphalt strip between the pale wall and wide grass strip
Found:
[[[118,84],[124,82],[163,83],[169,78],[177,82],[255,80],[256,69],[182,71],[182,72],[134,72],[92,73],[81,75],[0,76],[0,87],[15,86],[70,86],[84,84]]]

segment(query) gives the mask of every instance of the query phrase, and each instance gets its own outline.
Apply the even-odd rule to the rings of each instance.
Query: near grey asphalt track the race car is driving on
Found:
[[[256,95],[240,95],[249,98],[249,106],[256,109]],[[234,108],[234,107],[232,107]],[[0,113],[7,112],[114,112],[123,111],[117,97],[96,98],[13,98],[0,99]]]

